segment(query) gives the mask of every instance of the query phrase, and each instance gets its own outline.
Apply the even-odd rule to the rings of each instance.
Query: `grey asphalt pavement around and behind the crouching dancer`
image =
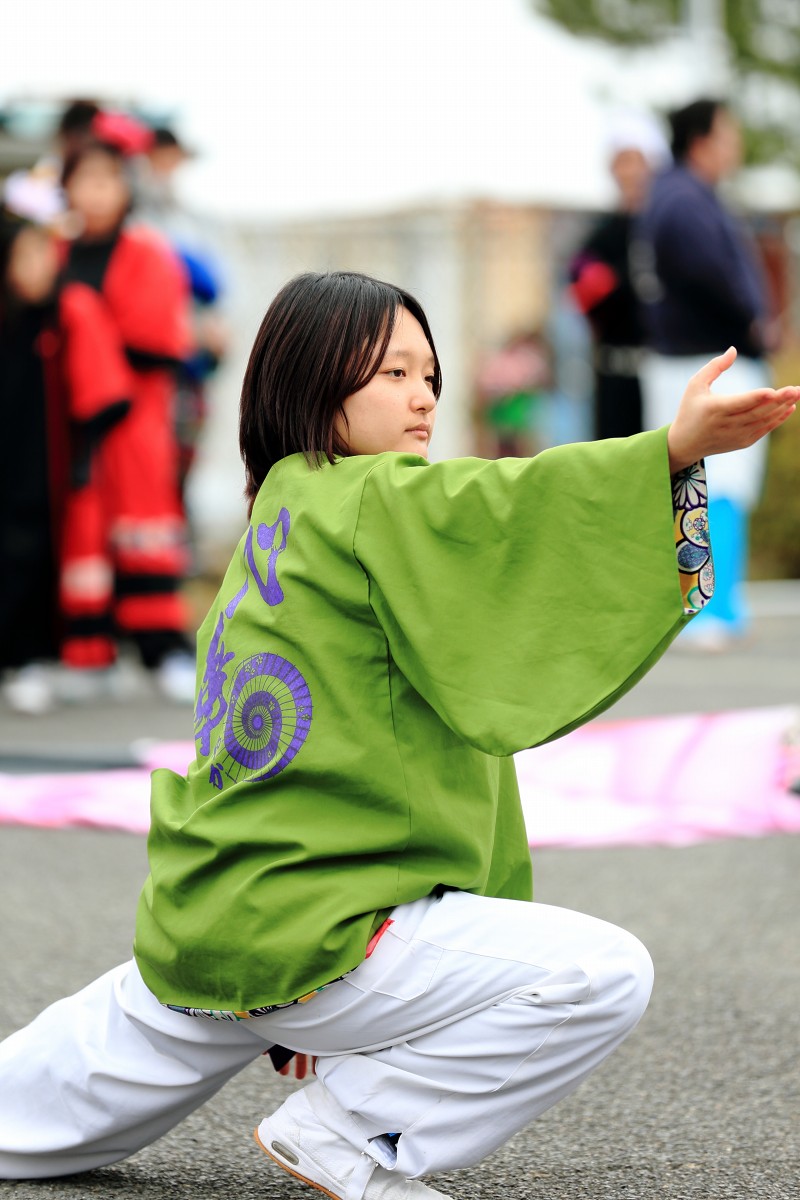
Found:
[[[724,655],[670,649],[614,715],[800,704],[800,589],[753,596],[746,644]],[[125,704],[37,720],[0,709],[0,772],[48,758],[112,766],[137,739],[188,737],[190,710],[145,685]],[[0,828],[0,1036],[128,955],[145,871],[143,838]],[[645,942],[654,997],[575,1096],[480,1166],[431,1182],[457,1200],[800,1198],[800,839],[541,851],[534,871],[539,900]],[[301,1200],[312,1193],[252,1140],[294,1086],[261,1058],[127,1162],[0,1183],[0,1195]]]

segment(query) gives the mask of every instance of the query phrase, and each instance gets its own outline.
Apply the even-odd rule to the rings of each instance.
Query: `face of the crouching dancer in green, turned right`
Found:
[[[428,457],[437,416],[433,350],[416,317],[397,310],[378,371],[344,401],[336,432],[350,454],[419,454]]]

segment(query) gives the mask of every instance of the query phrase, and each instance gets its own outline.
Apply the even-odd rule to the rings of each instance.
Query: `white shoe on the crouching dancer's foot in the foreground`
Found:
[[[315,1080],[293,1092],[277,1112],[259,1124],[255,1141],[278,1166],[331,1200],[447,1200],[443,1192],[380,1166],[378,1158],[391,1157],[387,1147],[378,1145],[384,1139],[367,1141],[348,1114],[341,1114],[339,1123],[350,1126],[348,1133],[363,1145],[361,1151],[323,1124],[315,1110],[325,1109],[325,1094]]]

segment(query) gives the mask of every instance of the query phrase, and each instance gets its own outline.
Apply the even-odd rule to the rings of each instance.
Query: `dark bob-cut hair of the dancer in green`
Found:
[[[281,288],[242,383],[239,448],[251,509],[267,472],[287,455],[302,452],[315,464],[347,456],[336,419],[377,373],[399,308],[416,317],[433,352],[438,400],[439,358],[422,306],[408,292],[355,271],[309,271]]]

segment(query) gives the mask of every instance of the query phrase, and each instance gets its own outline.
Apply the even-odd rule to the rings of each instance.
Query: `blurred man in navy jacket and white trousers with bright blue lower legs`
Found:
[[[771,344],[768,295],[758,253],[744,223],[717,194],[718,185],[741,164],[739,124],[718,100],[697,100],[672,113],[669,124],[674,163],[652,185],[636,246],[651,352],[642,373],[646,428],[672,421],[675,382],[729,346],[739,356],[721,391],[771,382],[765,361]],[[766,439],[714,458],[708,467],[715,594],[686,635],[708,649],[723,649],[747,629],[741,587],[747,527],[765,457]]]

